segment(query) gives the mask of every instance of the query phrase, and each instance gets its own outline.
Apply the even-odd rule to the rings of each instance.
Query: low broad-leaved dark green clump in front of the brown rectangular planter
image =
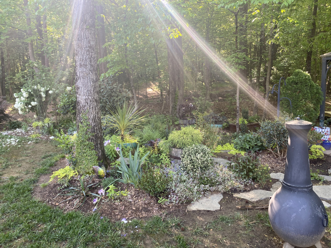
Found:
[[[263,150],[263,142],[257,134],[243,134],[233,141],[234,147],[240,151],[259,151]]]

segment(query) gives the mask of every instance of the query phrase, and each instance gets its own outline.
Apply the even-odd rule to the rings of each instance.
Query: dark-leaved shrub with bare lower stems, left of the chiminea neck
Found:
[[[277,152],[281,156],[280,151],[287,147],[288,132],[285,125],[278,120],[264,121],[261,123],[259,135],[262,138],[263,145],[272,152]]]

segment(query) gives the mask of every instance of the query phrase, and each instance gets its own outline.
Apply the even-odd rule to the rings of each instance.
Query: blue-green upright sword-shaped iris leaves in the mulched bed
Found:
[[[132,159],[131,153],[129,153],[129,162],[130,162],[130,166],[128,167],[124,161],[124,157],[122,154],[122,149],[120,148],[119,150],[119,155],[120,155],[120,165],[118,165],[118,173],[122,174],[122,179],[118,180],[118,182],[120,183],[130,183],[133,184],[135,188],[138,187],[138,183],[140,181],[141,178],[141,174],[142,174],[142,164],[145,161],[145,158],[148,156],[149,152],[147,152],[145,154],[145,156],[143,156],[142,159],[140,159],[139,154],[139,145],[137,147],[137,149],[134,152],[134,156]]]

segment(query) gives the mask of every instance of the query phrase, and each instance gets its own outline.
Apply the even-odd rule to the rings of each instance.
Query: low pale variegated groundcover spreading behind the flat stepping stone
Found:
[[[163,169],[166,176],[172,180],[167,185],[168,200],[170,203],[192,202],[213,191],[229,191],[243,189],[243,181],[235,174],[219,164],[215,164],[206,172],[188,172],[178,164],[171,164]],[[203,181],[203,179],[207,179]],[[205,184],[204,184],[205,183]]]

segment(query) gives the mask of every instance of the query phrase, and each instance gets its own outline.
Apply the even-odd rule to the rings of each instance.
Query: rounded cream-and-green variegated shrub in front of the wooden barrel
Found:
[[[213,164],[210,149],[205,145],[185,147],[181,155],[183,168],[186,171],[207,171]]]

